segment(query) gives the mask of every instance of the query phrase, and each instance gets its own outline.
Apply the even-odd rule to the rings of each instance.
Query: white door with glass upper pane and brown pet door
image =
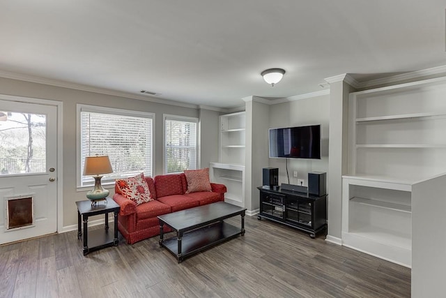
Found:
[[[0,244],[57,231],[57,109],[0,99]]]

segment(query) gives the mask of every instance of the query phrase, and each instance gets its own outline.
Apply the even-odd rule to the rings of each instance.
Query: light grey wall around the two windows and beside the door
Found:
[[[42,98],[48,100],[59,100],[63,102],[63,226],[77,224],[77,211],[75,202],[86,200],[86,191],[77,191],[76,188],[76,104],[99,105],[103,107],[114,107],[126,110],[138,110],[155,113],[155,169],[154,175],[162,174],[162,114],[174,114],[185,117],[199,117],[199,110],[193,107],[180,107],[175,105],[164,105],[146,100],[110,96],[88,91],[79,91],[63,87],[54,87],[45,84],[10,80],[0,77],[0,94],[12,96],[25,96],[30,98]],[[217,135],[218,117],[212,117],[213,113],[206,115],[201,121],[202,127],[209,127],[213,134]],[[206,121],[206,123],[205,123]],[[213,135],[210,130],[204,132],[208,137]],[[216,141],[215,141],[216,140]],[[218,138],[212,142],[218,143]],[[208,152],[208,150],[210,152]],[[218,152],[214,146],[203,146],[201,153],[205,159],[213,158]],[[208,161],[203,161],[208,163]],[[107,187],[113,195],[114,187]]]

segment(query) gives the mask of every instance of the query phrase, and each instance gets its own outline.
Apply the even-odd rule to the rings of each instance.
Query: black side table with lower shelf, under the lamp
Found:
[[[112,199],[107,198],[105,201],[98,202],[95,206],[91,206],[90,200],[78,201],[77,205],[77,239],[82,241],[84,255],[91,251],[108,246],[117,246],[118,241],[118,213],[121,207]],[[109,229],[109,212],[114,213],[114,228]],[[89,233],[88,223],[89,216],[105,214],[105,231],[102,229],[92,230]],[[82,237],[82,225],[84,223]],[[90,243],[89,243],[90,240]],[[90,245],[89,245],[90,244]]]

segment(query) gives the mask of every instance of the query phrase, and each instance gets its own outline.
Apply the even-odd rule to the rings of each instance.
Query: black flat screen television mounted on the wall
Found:
[[[321,125],[270,128],[270,157],[321,159]]]

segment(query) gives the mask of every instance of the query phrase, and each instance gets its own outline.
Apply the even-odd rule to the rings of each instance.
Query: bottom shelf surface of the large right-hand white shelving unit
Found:
[[[349,234],[364,239],[370,239],[380,244],[385,244],[386,246],[404,248],[408,251],[412,250],[412,236],[410,234],[387,230],[374,225],[351,228]]]

